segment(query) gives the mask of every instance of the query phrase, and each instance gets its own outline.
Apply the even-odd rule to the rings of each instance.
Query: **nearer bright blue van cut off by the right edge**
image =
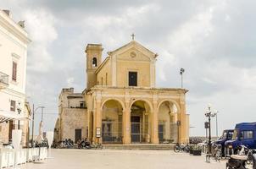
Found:
[[[231,140],[225,142],[229,154],[237,154],[237,146],[256,149],[256,123],[237,123]]]

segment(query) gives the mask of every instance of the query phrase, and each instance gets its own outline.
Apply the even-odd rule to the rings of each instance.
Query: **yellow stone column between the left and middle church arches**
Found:
[[[130,102],[125,101],[124,118],[124,140],[123,144],[131,144],[131,109]]]

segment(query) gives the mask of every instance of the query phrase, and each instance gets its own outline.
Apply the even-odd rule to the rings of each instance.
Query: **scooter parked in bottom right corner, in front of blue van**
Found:
[[[256,151],[248,150],[244,145],[238,147],[240,150],[238,155],[231,155],[231,158],[226,162],[227,169],[247,169],[247,162],[251,158],[253,161],[253,169],[256,169]]]

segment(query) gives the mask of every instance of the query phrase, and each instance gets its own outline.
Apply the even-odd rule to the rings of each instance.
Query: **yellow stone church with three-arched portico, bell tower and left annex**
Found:
[[[88,44],[85,52],[86,89],[81,93],[85,102],[84,107],[78,106],[83,116],[74,120],[75,109],[64,106],[70,111],[65,110],[68,116],[62,116],[64,109],[59,111],[55,138],[75,141],[88,138],[102,144],[188,142],[188,90],[155,86],[156,53],[136,41],[108,52],[103,62],[102,45]],[[61,102],[71,104],[65,101],[68,99],[64,97]],[[70,123],[74,125],[68,119],[73,119]],[[76,123],[81,125],[75,126]],[[73,134],[64,134],[65,126],[74,126],[70,128]]]

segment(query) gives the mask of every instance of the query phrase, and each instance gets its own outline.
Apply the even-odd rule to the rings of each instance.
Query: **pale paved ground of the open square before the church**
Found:
[[[28,163],[22,169],[225,169],[225,161],[206,163],[193,156],[166,150],[52,150],[53,159]]]

